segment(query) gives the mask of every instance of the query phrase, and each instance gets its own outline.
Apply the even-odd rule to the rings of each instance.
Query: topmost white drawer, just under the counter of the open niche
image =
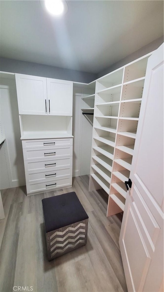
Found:
[[[61,139],[36,139],[36,140],[22,140],[23,149],[32,148],[48,148],[48,147],[61,147],[61,146],[72,146],[72,138],[61,138]]]

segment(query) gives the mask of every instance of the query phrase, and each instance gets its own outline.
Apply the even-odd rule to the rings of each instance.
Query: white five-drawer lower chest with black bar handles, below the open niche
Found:
[[[72,140],[22,141],[27,195],[72,186]]]

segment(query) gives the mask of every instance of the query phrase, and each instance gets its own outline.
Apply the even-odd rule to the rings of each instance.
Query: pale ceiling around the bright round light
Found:
[[[163,35],[163,1],[0,1],[1,56],[97,73]]]

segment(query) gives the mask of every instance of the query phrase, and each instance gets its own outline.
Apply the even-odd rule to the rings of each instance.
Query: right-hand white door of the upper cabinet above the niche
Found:
[[[73,82],[47,78],[48,114],[72,116]]]

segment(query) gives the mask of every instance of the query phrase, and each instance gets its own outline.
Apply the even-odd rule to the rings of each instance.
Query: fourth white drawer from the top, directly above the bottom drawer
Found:
[[[48,181],[56,178],[62,178],[64,176],[72,175],[72,167],[64,169],[41,171],[41,172],[26,172],[26,183],[33,183],[36,181]]]

